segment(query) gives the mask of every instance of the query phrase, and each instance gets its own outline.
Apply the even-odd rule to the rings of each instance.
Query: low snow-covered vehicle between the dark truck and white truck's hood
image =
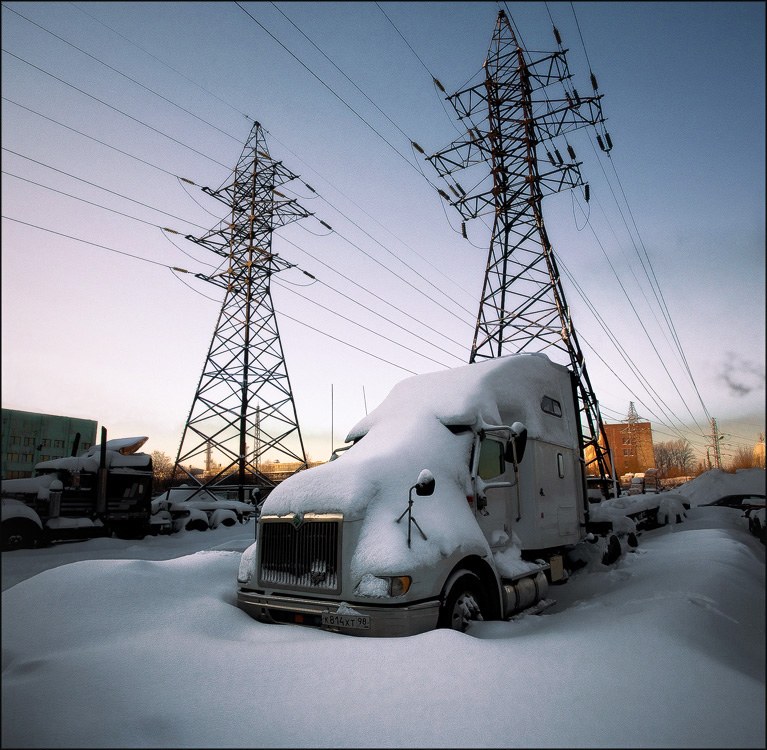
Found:
[[[205,531],[219,525],[247,523],[257,511],[251,503],[227,500],[209,490],[182,485],[173,487],[152,499],[153,512],[167,511],[173,519],[173,530]]]

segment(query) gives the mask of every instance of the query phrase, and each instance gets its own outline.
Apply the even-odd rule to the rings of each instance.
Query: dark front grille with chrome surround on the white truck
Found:
[[[258,544],[261,586],[340,592],[341,523],[338,513],[262,516]]]

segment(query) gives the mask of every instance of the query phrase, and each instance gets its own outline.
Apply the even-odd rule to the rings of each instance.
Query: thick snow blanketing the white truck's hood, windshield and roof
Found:
[[[544,364],[545,362],[545,364]],[[541,432],[543,393],[563,398],[551,383],[545,355],[510,355],[407,378],[349,433],[357,440],[334,461],[299,472],[266,499],[264,515],[344,514],[363,520],[352,574],[399,574],[404,563],[434,563],[463,546],[466,554],[490,554],[466,497],[472,495],[469,460],[473,435],[446,425],[500,424],[519,414],[535,437]],[[532,403],[535,408],[529,408]],[[436,480],[434,494],[413,492],[412,514],[427,536],[411,528],[407,548],[408,493],[423,469]],[[470,548],[470,549],[469,549]]]

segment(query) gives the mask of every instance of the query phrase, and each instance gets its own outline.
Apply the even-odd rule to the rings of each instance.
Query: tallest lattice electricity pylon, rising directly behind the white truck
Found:
[[[589,199],[588,185],[581,179],[582,162],[567,143],[568,132],[599,126],[602,150],[609,152],[612,141],[604,130],[602,95],[594,74],[594,95],[582,97],[572,86],[556,28],[554,35],[558,50],[534,53],[530,60],[501,10],[485,61],[485,80],[447,97],[466,124],[466,134],[428,159],[453,194],[440,191],[464,219],[464,236],[466,221],[493,216],[469,362],[504,353],[562,352],[575,373],[583,443],[592,449],[588,463],[596,463],[599,474],[608,479],[607,435],[570,319],[541,201],[544,195],[576,186],[583,186]],[[564,96],[549,91],[554,84],[563,85]],[[565,141],[569,161],[562,158],[555,139]],[[550,165],[539,162],[543,144]],[[453,177],[462,170],[464,184],[474,186],[468,192]]]

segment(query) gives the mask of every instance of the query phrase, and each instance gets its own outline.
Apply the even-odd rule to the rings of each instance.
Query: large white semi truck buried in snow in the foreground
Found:
[[[581,434],[572,373],[544,354],[402,381],[348,450],[269,495],[239,607],[401,636],[545,605],[592,531],[607,561],[620,553],[589,518]]]

